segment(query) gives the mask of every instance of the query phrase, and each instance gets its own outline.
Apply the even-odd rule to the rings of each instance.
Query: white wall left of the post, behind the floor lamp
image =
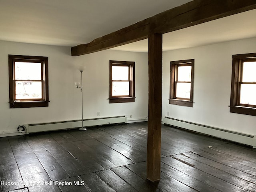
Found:
[[[8,54],[48,56],[49,107],[9,108]],[[106,50],[72,57],[70,47],[0,41],[0,134],[16,131],[27,123],[81,119],[81,66],[84,86],[84,118],[130,115],[133,119],[148,115],[148,55],[145,53]],[[135,102],[108,103],[109,60],[135,61]],[[132,120],[133,120],[132,119]]]

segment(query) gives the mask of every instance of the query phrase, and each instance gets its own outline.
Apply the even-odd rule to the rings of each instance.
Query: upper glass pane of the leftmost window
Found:
[[[41,80],[41,63],[15,62],[16,80]]]

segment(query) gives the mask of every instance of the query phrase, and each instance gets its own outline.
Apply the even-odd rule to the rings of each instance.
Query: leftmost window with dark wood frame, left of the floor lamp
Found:
[[[48,57],[9,55],[10,108],[48,106]]]

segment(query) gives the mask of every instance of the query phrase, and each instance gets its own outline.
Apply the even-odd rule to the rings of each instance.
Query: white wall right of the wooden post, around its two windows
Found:
[[[256,38],[163,53],[162,116],[256,135],[256,117],[229,112],[232,55],[256,52]],[[170,61],[195,59],[193,107],[169,104]]]

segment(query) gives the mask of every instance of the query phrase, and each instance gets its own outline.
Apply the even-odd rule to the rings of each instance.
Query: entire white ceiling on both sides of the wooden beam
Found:
[[[76,46],[191,0],[0,0],[0,40]],[[256,37],[256,10],[164,34],[163,50]],[[142,40],[112,48],[147,52]]]

